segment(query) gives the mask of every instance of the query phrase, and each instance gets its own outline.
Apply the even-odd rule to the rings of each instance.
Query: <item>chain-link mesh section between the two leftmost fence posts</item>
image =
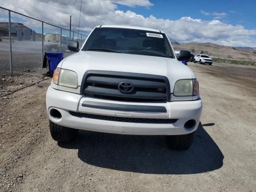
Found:
[[[11,12],[13,72],[31,70],[42,63],[42,22]]]

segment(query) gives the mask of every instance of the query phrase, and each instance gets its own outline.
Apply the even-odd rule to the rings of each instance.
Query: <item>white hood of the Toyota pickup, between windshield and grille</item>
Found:
[[[177,80],[196,78],[192,70],[177,59],[112,52],[79,51],[62,60],[58,67],[75,71],[78,75],[78,86],[81,86],[82,78],[87,70],[166,76],[170,82],[171,92]]]

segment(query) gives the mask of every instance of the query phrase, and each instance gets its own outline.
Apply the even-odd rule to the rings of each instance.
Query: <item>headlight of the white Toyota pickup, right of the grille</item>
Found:
[[[198,93],[199,86],[196,79],[181,79],[174,85],[174,96],[194,96]]]

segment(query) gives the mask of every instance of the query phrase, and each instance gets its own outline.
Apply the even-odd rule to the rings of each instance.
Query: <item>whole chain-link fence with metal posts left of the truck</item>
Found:
[[[86,35],[54,26],[0,7],[0,76],[41,68],[44,52],[62,52],[72,40],[84,43]]]

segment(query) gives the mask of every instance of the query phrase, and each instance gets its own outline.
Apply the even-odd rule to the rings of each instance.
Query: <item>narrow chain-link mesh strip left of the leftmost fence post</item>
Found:
[[[9,12],[0,9],[0,75],[10,74]]]

